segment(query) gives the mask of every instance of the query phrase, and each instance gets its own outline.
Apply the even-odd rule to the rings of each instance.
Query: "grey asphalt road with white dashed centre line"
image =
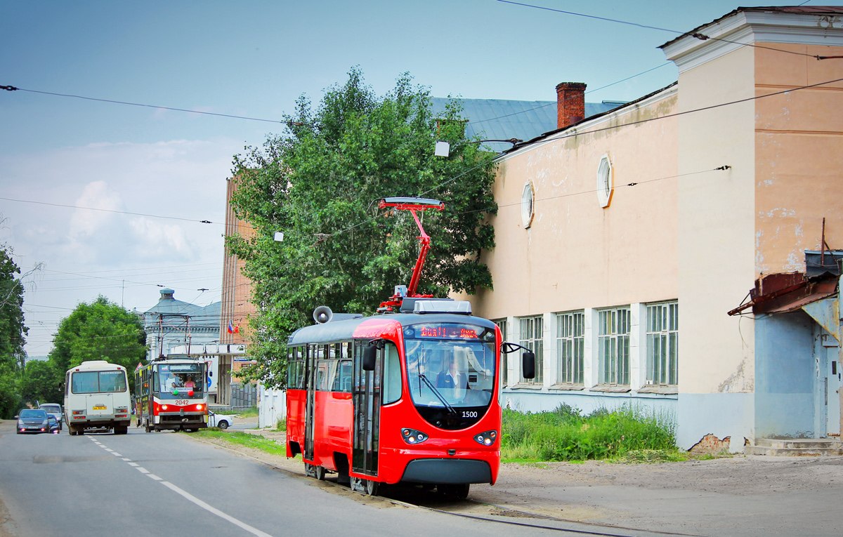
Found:
[[[136,428],[16,435],[0,424],[0,504],[3,537],[568,533],[337,492],[184,434]]]

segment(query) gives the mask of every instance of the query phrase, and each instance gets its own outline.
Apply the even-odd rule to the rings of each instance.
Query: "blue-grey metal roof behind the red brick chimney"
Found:
[[[442,114],[451,100],[463,105],[463,117],[468,120],[465,136],[479,136],[483,139],[532,140],[550,130],[556,130],[556,101],[514,101],[502,98],[432,98],[433,113]],[[585,115],[603,114],[619,107],[621,101],[586,103]],[[503,151],[512,145],[487,142],[485,147],[492,151]]]

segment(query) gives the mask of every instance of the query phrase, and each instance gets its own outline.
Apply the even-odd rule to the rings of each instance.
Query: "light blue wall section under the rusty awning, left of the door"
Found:
[[[803,311],[755,319],[755,435],[811,438],[813,319]]]

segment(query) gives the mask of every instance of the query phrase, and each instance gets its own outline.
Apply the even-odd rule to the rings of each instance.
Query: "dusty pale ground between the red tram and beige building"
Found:
[[[285,433],[247,430],[283,444]],[[244,450],[244,449],[240,449]],[[300,458],[248,450],[303,476]],[[329,476],[329,481],[333,476]],[[401,499],[400,492],[384,492]],[[406,493],[404,493],[406,494]],[[471,502],[412,502],[475,514],[564,520],[695,535],[839,535],[843,457],[764,457],[659,464],[504,464],[494,486],[472,485]]]

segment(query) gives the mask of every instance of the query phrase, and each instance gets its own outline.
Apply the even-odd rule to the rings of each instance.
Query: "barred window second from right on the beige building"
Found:
[[[630,383],[630,309],[599,311],[597,348],[600,384]]]

